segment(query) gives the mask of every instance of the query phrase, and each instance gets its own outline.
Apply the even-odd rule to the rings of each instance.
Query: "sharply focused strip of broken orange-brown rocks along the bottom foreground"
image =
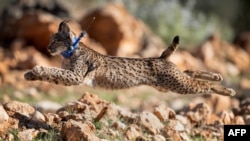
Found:
[[[207,102],[192,102],[178,112],[164,104],[153,107],[152,111],[131,112],[86,92],[56,113],[40,112],[27,103],[9,101],[0,106],[0,137],[70,141],[222,140],[224,124],[250,124],[249,99],[240,105],[237,100],[230,103],[229,98],[216,95],[203,100]],[[215,101],[218,103],[211,103]],[[241,108],[219,109],[230,105]]]

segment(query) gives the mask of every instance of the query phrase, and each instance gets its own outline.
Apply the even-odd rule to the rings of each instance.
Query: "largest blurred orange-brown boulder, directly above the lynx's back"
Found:
[[[109,55],[133,56],[142,52],[140,56],[146,57],[147,53],[144,51],[148,50],[152,57],[159,56],[159,50],[165,47],[159,37],[120,3],[109,3],[89,12],[80,21],[83,29],[93,17],[95,21],[88,34],[99,42]]]

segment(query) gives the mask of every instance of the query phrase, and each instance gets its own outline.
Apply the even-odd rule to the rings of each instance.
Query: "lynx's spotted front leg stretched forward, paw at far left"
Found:
[[[41,80],[55,84],[79,85],[83,82],[83,76],[80,73],[71,70],[36,66],[31,71],[24,74],[24,78],[29,81]]]

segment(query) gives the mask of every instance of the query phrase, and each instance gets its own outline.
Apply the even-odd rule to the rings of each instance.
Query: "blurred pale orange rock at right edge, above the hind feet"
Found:
[[[206,67],[223,76],[236,76],[240,72],[246,72],[250,66],[249,55],[245,51],[221,40],[217,34],[209,37],[199,49],[196,54],[201,55]]]

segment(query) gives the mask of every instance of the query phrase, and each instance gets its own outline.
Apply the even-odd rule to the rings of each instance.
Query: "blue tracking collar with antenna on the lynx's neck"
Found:
[[[73,55],[74,51],[76,50],[76,48],[78,47],[81,38],[83,38],[86,33],[87,33],[86,31],[83,31],[80,33],[79,37],[74,37],[73,44],[70,46],[70,49],[61,52],[61,55],[64,58],[71,57]]]

